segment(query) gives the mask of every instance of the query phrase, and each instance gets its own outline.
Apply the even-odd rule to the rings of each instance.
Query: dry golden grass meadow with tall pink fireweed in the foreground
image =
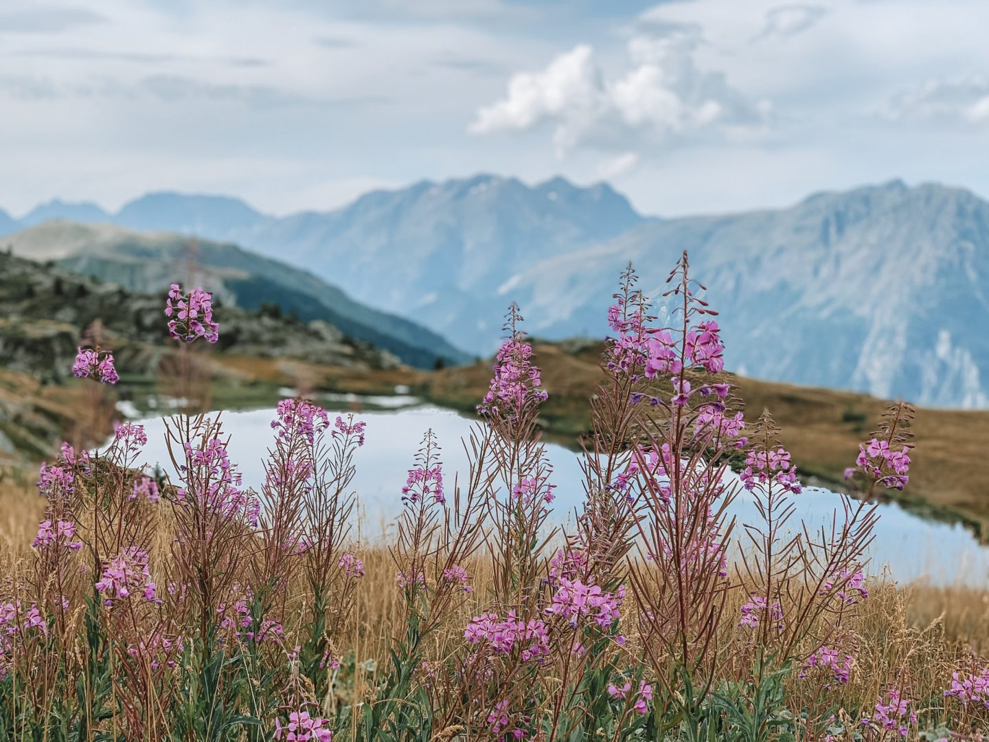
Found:
[[[174,475],[122,423],[3,496],[0,738],[981,739],[989,594],[867,563],[873,504],[909,486],[912,409],[863,432],[830,524],[803,526],[790,453],[745,416],[697,286],[684,255],[660,327],[621,277],[573,526],[552,517],[554,390],[513,307],[469,471],[444,478],[423,431],[373,540],[350,485],[374,429],[284,400],[244,487],[236,430],[201,412],[211,297],[173,286]],[[74,373],[98,431],[112,349],[80,348]],[[757,520],[728,514],[739,497]]]

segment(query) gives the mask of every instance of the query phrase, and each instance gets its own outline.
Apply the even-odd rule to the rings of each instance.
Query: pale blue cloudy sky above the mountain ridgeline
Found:
[[[287,214],[476,172],[661,216],[989,196],[987,28],[985,0],[3,0],[0,209]]]

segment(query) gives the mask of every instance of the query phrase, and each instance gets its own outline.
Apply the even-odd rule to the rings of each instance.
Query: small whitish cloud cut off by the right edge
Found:
[[[989,124],[989,77],[929,80],[897,93],[879,113],[896,122]]]

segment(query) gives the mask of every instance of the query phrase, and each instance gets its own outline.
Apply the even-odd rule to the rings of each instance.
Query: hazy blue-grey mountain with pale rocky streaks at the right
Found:
[[[540,335],[601,333],[622,267],[634,261],[659,296],[684,248],[721,312],[733,370],[989,407],[989,204],[968,191],[894,181],[654,222],[535,263],[512,295]]]

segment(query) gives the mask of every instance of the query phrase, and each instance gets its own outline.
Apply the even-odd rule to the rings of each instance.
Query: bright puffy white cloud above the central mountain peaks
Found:
[[[716,128],[759,127],[768,106],[729,85],[724,73],[700,69],[695,27],[675,26],[662,35],[640,34],[627,46],[627,65],[605,77],[591,46],[575,46],[539,72],[519,72],[507,94],[477,112],[472,134],[522,132],[551,122],[559,155],[592,141],[603,148],[685,137]]]

